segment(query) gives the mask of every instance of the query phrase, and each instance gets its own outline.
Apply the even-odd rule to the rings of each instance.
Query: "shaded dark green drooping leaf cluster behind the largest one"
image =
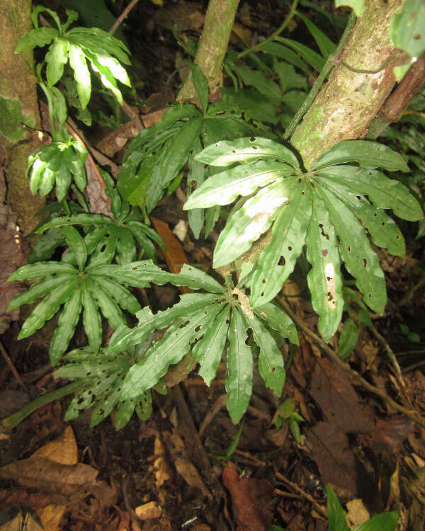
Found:
[[[208,83],[199,67],[190,64],[198,91],[200,108],[180,103],[169,108],[152,127],[140,131],[125,152],[118,176],[118,189],[132,205],[143,205],[150,212],[164,190],[173,191],[179,184],[188,162],[188,192],[205,180],[205,169],[194,159],[198,152],[220,139],[234,139],[259,132],[259,125],[249,125],[231,103],[208,103]],[[266,128],[261,129],[267,134]],[[219,209],[198,210],[189,215],[196,237],[205,222],[209,234],[217,221]]]

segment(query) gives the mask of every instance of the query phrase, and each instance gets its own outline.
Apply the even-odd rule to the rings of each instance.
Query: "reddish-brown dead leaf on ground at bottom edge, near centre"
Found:
[[[222,480],[232,496],[237,531],[266,531],[273,519],[271,484],[266,479],[241,479],[232,462],[227,462]]]

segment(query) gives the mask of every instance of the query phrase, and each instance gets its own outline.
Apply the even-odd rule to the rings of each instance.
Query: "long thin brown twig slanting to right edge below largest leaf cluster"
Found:
[[[319,338],[313,331],[309,329],[309,327],[302,321],[302,319],[299,319],[293,312],[293,310],[290,308],[288,302],[283,299],[283,297],[279,297],[279,302],[282,305],[285,312],[290,316],[290,318],[294,321],[294,323],[300,328],[307,336],[309,336],[314,343],[328,356],[329,359],[331,359],[336,365],[341,367],[345,372],[348,373],[348,375],[356,380],[359,384],[361,384],[362,387],[367,389],[369,392],[375,394],[376,396],[379,396],[380,399],[385,401],[388,406],[392,407],[392,409],[395,409],[396,411],[399,411],[399,413],[403,413],[403,415],[410,418],[414,423],[418,424],[422,428],[425,428],[425,421],[422,418],[419,418],[413,411],[409,411],[409,409],[406,409],[403,406],[400,406],[397,404],[396,401],[394,401],[390,396],[387,395],[382,389],[379,389],[378,387],[375,387],[374,385],[370,384],[366,379],[364,379],[361,375],[358,374],[357,371],[353,370],[348,363],[340,360],[338,356],[336,355],[335,350],[331,349],[327,343],[323,341],[322,338]]]

